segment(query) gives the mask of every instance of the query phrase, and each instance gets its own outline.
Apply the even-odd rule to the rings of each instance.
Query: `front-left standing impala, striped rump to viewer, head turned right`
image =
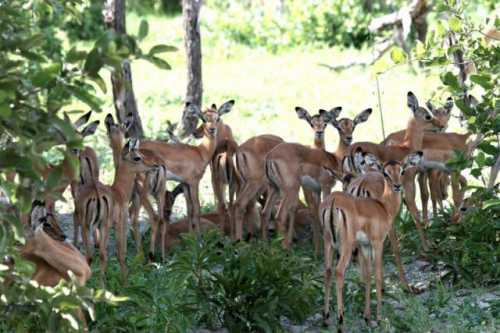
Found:
[[[121,151],[113,185],[106,186],[100,183],[85,185],[81,186],[78,192],[75,200],[74,218],[82,226],[82,237],[89,262],[92,251],[88,233],[94,231],[95,228],[100,230],[99,253],[103,284],[108,261],[107,245],[111,225],[115,227],[118,261],[123,281],[126,283],[127,208],[132,195],[135,175],[138,172],[146,172],[156,167],[156,165],[148,165],[145,161],[143,154],[139,151],[139,141],[130,139]]]

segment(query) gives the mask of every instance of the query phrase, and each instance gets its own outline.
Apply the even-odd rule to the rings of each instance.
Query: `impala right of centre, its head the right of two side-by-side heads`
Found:
[[[298,110],[303,109],[298,108]],[[332,122],[339,131],[341,139],[337,153],[342,155],[352,141],[352,132],[356,125],[368,120],[372,110],[367,109],[361,112],[354,120],[344,118],[337,121],[336,118],[340,111],[341,108],[339,107],[332,109],[330,112],[320,110],[317,117],[323,119],[324,122]],[[315,142],[317,143],[317,141]],[[315,251],[319,253],[321,236],[317,212],[320,197],[321,195],[325,197],[330,193],[335,179],[340,179],[340,170],[339,158],[335,154],[325,151],[324,143],[321,145],[316,144],[314,148],[297,143],[282,143],[278,145],[266,157],[266,176],[268,182],[271,184],[271,190],[269,191],[264,208],[263,227],[267,227],[270,210],[277,200],[278,193],[281,193],[282,201],[278,209],[278,229],[282,234],[285,234],[285,247],[288,248],[290,246],[294,235],[294,212],[298,204],[299,188],[302,186],[305,189],[306,201],[315,217],[313,240]],[[288,227],[287,221],[289,221]]]

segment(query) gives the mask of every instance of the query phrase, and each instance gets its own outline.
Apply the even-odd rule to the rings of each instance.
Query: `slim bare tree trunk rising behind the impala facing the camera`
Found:
[[[186,102],[201,108],[203,81],[201,72],[201,36],[199,15],[202,0],[182,0],[184,15],[184,46],[186,47],[188,84]]]

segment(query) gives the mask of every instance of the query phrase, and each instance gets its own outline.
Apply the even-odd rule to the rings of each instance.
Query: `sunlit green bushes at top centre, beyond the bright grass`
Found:
[[[307,44],[360,48],[372,40],[368,31],[372,18],[397,10],[404,1],[375,1],[368,10],[363,0],[292,0],[284,1],[281,13],[276,3],[209,1],[214,13],[208,15],[206,28],[273,52]]]

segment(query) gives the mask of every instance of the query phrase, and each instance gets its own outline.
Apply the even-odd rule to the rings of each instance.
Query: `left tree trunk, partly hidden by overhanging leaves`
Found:
[[[109,29],[118,34],[126,34],[126,0],[107,0],[104,10],[104,21]],[[113,101],[116,117],[120,123],[132,123],[127,132],[127,137],[144,137],[141,117],[137,110],[134,89],[132,86],[132,69],[129,60],[124,60],[121,71],[111,74],[113,85]]]

